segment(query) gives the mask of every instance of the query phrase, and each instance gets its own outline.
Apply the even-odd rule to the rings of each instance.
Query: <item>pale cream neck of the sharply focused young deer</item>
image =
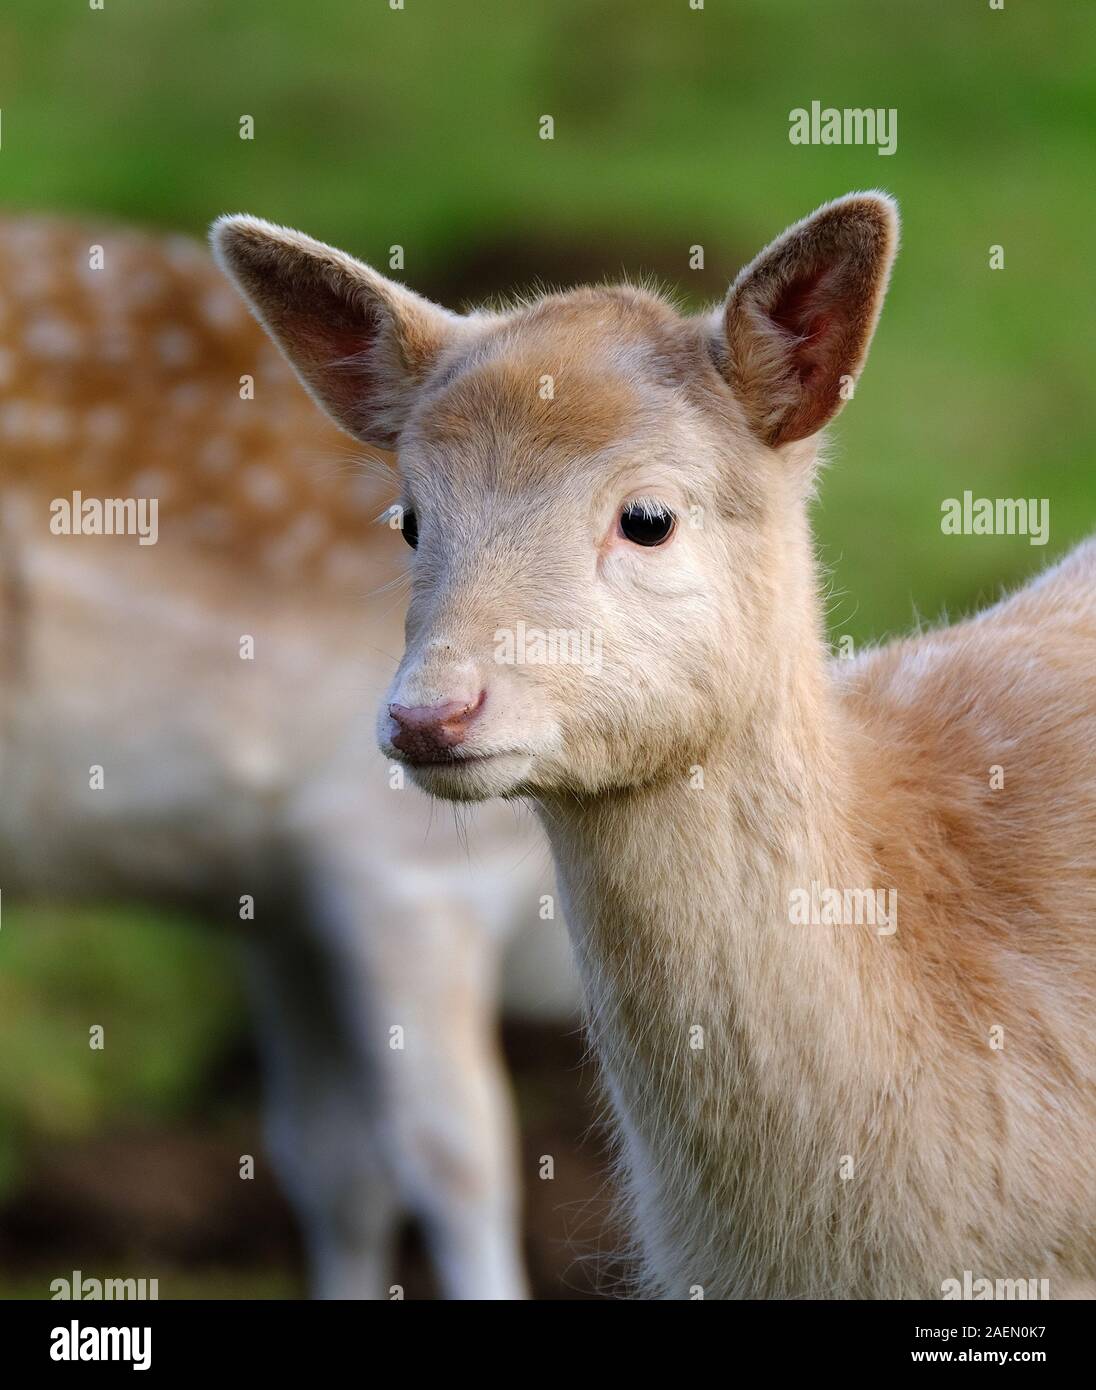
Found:
[[[741,1251],[787,1230],[757,1213],[818,1219],[804,1165],[836,1182],[893,1066],[890,937],[790,910],[812,884],[876,887],[850,828],[855,735],[816,634],[808,621],[780,644],[794,655],[773,657],[750,719],[704,749],[702,783],[683,769],[542,806],[630,1195],[650,1208],[633,1226],[676,1293],[762,1287]]]

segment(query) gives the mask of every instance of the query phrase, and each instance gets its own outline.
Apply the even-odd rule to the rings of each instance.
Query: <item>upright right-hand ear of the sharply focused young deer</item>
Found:
[[[885,193],[850,193],[790,227],[734,281],[722,370],[754,434],[779,448],[816,434],[860,375],[898,245]]]

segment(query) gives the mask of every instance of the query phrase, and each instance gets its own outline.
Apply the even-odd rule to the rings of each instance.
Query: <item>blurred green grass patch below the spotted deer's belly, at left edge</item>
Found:
[[[181,917],[6,903],[0,1200],[35,1143],[193,1104],[245,1016],[236,969],[227,941]]]

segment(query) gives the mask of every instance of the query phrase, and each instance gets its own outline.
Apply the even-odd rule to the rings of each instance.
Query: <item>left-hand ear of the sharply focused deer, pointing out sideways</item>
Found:
[[[335,424],[394,449],[416,388],[463,320],[257,217],[221,217],[210,240],[217,264]]]

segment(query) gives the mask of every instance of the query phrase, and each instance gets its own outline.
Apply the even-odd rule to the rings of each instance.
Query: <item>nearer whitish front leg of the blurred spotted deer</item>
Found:
[[[498,1045],[499,940],[437,862],[370,863],[328,838],[344,1008],[378,1077],[388,1172],[446,1298],[523,1298],[520,1197]]]

